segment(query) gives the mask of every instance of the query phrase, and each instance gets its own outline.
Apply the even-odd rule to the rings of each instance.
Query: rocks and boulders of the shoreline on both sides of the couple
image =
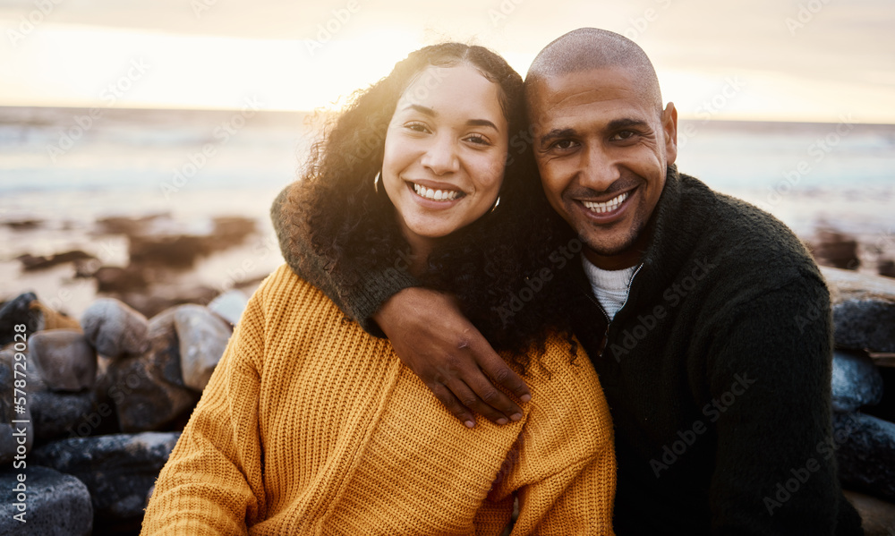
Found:
[[[78,318],[33,293],[0,304],[0,534],[139,533],[152,484],[258,283],[189,295],[174,295],[166,283],[169,270],[188,269],[202,255],[244,241],[254,222],[225,218],[206,235],[151,238],[146,229],[155,218],[138,219],[102,224],[132,244],[125,267],[76,252],[20,259],[29,270],[72,263],[82,277],[96,280],[102,297]],[[828,248],[826,254],[847,250]],[[814,251],[823,261],[823,248]],[[166,256],[178,259],[174,268]],[[830,447],[867,534],[891,536],[895,279],[822,270],[833,298],[837,348]],[[805,321],[813,314],[805,311]],[[17,397],[25,404],[13,405]],[[17,464],[22,461],[27,467]],[[21,473],[27,532],[13,518],[21,514]]]

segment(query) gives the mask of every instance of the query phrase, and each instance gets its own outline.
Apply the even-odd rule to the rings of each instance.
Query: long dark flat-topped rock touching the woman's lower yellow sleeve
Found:
[[[139,518],[179,437],[179,432],[144,432],[69,438],[36,448],[29,461],[84,482],[98,519]]]

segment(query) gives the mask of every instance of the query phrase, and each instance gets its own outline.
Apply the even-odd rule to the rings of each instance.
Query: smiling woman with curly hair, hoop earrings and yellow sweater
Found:
[[[497,535],[516,497],[513,534],[611,533],[609,410],[590,362],[548,328],[561,304],[542,292],[511,319],[491,311],[549,243],[532,163],[505,173],[521,110],[498,55],[425,47],[339,115],[283,209],[345,281],[395,266],[456,293],[524,373],[522,419],[465,429],[387,340],[284,266],[243,313],[143,534]]]

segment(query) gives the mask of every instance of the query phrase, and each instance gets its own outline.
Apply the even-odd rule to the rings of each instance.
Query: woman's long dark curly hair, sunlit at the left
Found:
[[[499,85],[509,127],[507,168],[499,207],[441,239],[420,279],[456,295],[461,311],[491,345],[512,352],[513,362],[525,368],[530,350],[542,351],[551,330],[567,328],[567,303],[552,288],[560,285],[543,278],[544,269],[554,271],[550,253],[565,233],[544,197],[533,161],[522,78],[499,55],[460,43],[408,55],[386,78],[356,93],[328,124],[284,208],[292,233],[308,236],[325,269],[349,295],[352,289],[362,292],[371,274],[395,267],[410,247],[388,195],[373,189],[388,124],[405,89],[428,67],[460,64],[472,65]]]

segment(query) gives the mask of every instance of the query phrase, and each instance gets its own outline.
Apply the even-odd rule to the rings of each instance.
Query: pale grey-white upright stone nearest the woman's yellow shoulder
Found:
[[[224,354],[230,327],[201,305],[178,307],[174,321],[180,339],[183,385],[201,393]]]

